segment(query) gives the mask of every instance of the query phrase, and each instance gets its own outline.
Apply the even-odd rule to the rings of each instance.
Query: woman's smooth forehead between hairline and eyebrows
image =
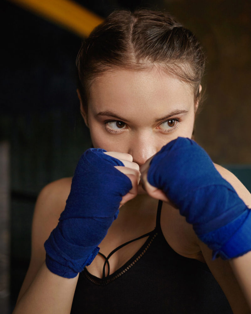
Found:
[[[159,68],[116,69],[103,73],[90,86],[88,107],[136,114],[188,109],[194,103],[190,85]]]

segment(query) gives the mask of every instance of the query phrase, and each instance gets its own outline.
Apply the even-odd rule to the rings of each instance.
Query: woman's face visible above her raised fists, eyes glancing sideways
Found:
[[[153,68],[113,70],[95,80],[85,121],[94,148],[131,154],[141,166],[178,136],[191,138],[194,118],[192,88]]]

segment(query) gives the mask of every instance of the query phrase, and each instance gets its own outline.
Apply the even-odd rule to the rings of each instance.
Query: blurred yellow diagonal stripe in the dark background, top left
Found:
[[[87,37],[103,19],[70,0],[10,0],[60,24],[81,37]]]

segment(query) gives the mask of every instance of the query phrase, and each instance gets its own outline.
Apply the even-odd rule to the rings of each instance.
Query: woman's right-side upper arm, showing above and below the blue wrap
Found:
[[[251,194],[236,178],[236,176],[234,176],[230,171],[223,168],[222,166],[215,165],[215,167],[222,177],[232,185],[244,203],[248,207],[251,207]],[[212,251],[205,243],[201,242],[200,240],[198,241],[203,257],[205,258],[206,263],[215,279],[225,293],[229,304],[232,307],[233,313],[250,313],[248,304],[243,296],[237,279],[235,278],[229,261],[223,261],[221,258],[217,258],[216,260],[212,261]]]

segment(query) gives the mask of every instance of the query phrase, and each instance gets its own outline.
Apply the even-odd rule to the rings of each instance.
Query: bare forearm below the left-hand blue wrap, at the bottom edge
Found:
[[[20,298],[13,314],[69,314],[77,284],[75,278],[63,278],[43,263],[35,279]]]

